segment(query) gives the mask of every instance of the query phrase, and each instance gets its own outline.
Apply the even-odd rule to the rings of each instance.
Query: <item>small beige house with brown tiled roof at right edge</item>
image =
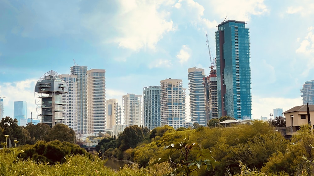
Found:
[[[314,105],[309,105],[309,112],[311,125],[314,125]],[[308,124],[307,105],[295,106],[283,113],[286,118],[286,127],[292,128],[292,134],[296,133],[300,126]]]

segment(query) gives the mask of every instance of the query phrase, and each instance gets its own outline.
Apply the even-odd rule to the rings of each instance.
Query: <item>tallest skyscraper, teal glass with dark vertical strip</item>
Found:
[[[250,35],[245,24],[228,20],[216,31],[218,117],[252,118]]]

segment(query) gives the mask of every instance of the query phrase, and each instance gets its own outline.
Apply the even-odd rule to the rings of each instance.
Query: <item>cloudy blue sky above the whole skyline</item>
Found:
[[[51,68],[70,73],[73,59],[106,69],[106,99],[142,94],[166,78],[182,79],[188,94],[187,69],[209,73],[205,34],[215,56],[215,31],[227,16],[250,28],[252,114],[268,117],[302,105],[302,84],[314,79],[313,13],[310,0],[0,0],[4,115],[27,101],[30,117],[36,81]]]

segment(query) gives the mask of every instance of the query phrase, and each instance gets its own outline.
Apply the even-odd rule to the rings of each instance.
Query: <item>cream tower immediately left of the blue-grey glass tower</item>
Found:
[[[126,125],[141,125],[142,124],[142,95],[128,93],[122,96],[123,118]]]

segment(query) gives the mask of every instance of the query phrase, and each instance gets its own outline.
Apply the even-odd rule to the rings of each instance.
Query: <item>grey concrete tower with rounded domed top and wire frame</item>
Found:
[[[55,71],[45,73],[36,83],[35,101],[37,114],[41,116],[41,123],[46,123],[52,128],[57,123],[62,123],[64,102],[62,94],[68,92],[68,84]]]

